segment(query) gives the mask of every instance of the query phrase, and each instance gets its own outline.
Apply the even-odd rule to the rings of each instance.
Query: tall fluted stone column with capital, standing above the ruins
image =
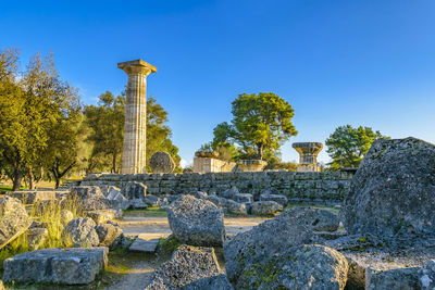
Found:
[[[142,60],[122,62],[128,75],[125,103],[122,174],[145,173],[147,142],[147,76],[157,67]]]

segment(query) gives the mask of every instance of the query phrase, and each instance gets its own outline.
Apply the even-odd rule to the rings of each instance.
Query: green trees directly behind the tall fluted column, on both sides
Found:
[[[88,159],[88,172],[107,168],[109,160],[111,172],[119,172],[124,138],[124,106],[125,93],[115,98],[113,93],[107,91],[100,96],[98,105],[85,108],[86,124],[91,128],[87,139],[92,146]],[[150,169],[149,160],[157,151],[166,151],[175,163],[179,164],[178,148],[172,143],[172,131],[166,123],[167,112],[157,103],[156,99],[149,97],[147,99],[147,171]]]

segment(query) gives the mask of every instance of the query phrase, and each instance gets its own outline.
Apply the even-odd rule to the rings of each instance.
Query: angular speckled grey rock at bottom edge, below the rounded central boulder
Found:
[[[220,274],[213,248],[182,244],[152,274],[145,290],[176,289]]]

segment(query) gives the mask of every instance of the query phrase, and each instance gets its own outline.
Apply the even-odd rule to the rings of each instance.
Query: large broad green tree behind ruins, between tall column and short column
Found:
[[[273,92],[241,93],[232,103],[233,119],[219,124],[214,130],[213,147],[237,143],[244,155],[256,152],[263,160],[278,151],[281,146],[297,131],[291,124],[291,105]]]

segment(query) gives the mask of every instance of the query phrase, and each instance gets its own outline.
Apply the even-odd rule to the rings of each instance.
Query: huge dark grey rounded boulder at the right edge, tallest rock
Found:
[[[341,209],[349,234],[435,232],[435,146],[415,138],[375,141]]]

